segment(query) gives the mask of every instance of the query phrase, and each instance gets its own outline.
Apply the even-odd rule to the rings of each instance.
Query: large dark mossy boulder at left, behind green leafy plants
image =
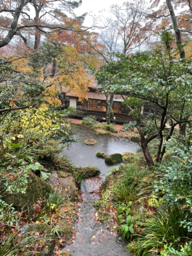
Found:
[[[30,172],[29,181],[27,184],[26,193],[15,193],[4,196],[3,200],[7,204],[13,204],[16,209],[22,209],[29,207],[41,198],[48,198],[49,194],[53,191],[51,185],[44,180],[41,180],[36,175]]]

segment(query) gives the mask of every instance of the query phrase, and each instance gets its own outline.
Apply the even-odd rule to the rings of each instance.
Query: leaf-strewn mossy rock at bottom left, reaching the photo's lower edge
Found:
[[[41,253],[46,256],[54,255],[55,242],[51,234],[51,228],[48,224],[38,223],[38,224],[27,224],[22,227],[23,232],[38,232],[39,236],[42,237],[45,246],[41,248]],[[28,234],[30,235],[30,234]]]

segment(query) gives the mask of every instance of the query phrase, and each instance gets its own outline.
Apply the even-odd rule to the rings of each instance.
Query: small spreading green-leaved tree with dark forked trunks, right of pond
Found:
[[[108,68],[108,73],[98,72],[99,77],[107,77],[110,73],[110,87],[113,91],[129,96],[125,102],[135,105],[131,113],[136,120],[134,124],[140,136],[144,157],[150,165],[154,165],[154,159],[148,150],[148,143],[155,138],[159,139],[156,162],[160,162],[166,151],[166,141],[173,135],[178,124],[191,122],[192,114],[191,59],[176,57],[181,46],[180,49],[173,48],[173,37],[168,32],[164,30],[160,36],[163,44],[152,52],[126,57],[121,55],[120,60],[111,65],[112,71]],[[142,124],[142,105],[152,110],[147,118],[153,121],[155,129],[150,133],[145,133]],[[167,122],[170,123],[170,130],[165,132]]]

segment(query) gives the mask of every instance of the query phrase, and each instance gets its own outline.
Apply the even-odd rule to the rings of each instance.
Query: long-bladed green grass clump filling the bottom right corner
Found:
[[[158,211],[149,217],[143,224],[141,233],[134,235],[136,240],[127,246],[130,251],[133,250],[133,256],[159,255],[167,244],[180,250],[190,239],[191,234],[187,227],[181,224],[192,217],[189,210],[173,205],[168,206],[166,211]]]

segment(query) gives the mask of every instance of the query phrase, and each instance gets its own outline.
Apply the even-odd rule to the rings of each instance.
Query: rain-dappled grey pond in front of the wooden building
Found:
[[[72,124],[74,138],[76,143],[67,150],[64,148],[62,155],[67,155],[77,166],[97,166],[102,175],[108,173],[110,165],[105,164],[104,159],[96,157],[96,152],[104,152],[105,154],[133,152],[136,153],[138,144],[127,138],[118,138],[109,135],[97,135],[93,130],[82,125]],[[86,145],[84,141],[94,139],[97,141],[95,145]]]

